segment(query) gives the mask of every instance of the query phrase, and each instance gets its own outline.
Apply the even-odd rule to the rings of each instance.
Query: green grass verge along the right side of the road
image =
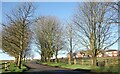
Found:
[[[79,65],[79,64],[64,64],[64,63],[42,63],[44,65],[49,66],[58,66],[61,68],[69,68],[69,69],[86,69],[86,70],[92,70],[93,72],[118,72],[119,67],[118,66],[107,66],[107,67],[93,67],[90,65]]]

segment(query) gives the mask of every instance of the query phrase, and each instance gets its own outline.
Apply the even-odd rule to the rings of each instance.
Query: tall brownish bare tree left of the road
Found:
[[[34,12],[34,6],[32,3],[23,3],[19,6],[16,10],[13,10],[11,15],[6,15],[7,19],[9,20],[7,24],[3,24],[8,28],[5,29],[5,33],[3,33],[2,40],[3,47],[8,46],[6,52],[15,49],[15,53],[18,55],[18,67],[21,68],[21,62],[23,57],[23,51],[26,50],[30,39],[31,39],[31,31],[30,31],[30,24],[31,24],[31,17]],[[6,50],[4,48],[3,50]]]

